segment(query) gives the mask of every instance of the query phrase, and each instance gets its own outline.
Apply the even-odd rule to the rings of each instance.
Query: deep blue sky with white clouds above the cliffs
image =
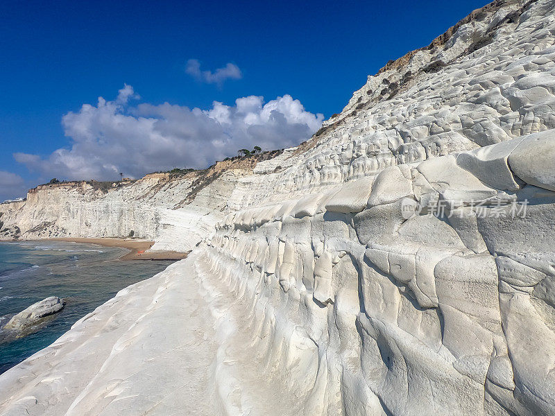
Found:
[[[0,199],[53,176],[115,180],[119,171],[203,167],[235,146],[293,146],[340,112],[368,74],[481,6],[6,3]]]

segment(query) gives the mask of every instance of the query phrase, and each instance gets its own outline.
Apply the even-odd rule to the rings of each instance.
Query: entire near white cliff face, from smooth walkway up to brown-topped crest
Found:
[[[278,195],[206,241],[210,273],[275,321],[255,351],[311,356],[304,414],[555,415],[554,6],[504,3],[475,27],[520,15],[477,51],[369,77]]]

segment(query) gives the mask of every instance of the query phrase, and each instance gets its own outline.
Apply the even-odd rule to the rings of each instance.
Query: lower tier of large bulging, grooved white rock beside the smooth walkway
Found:
[[[311,209],[268,205],[217,225],[201,248],[208,272],[253,303],[253,320],[283,333],[255,352],[317,346],[302,358],[317,387],[302,393],[325,385],[330,394],[304,414],[555,414],[555,192],[536,180],[534,162],[555,148],[550,133],[526,158],[516,153],[533,172],[521,176],[543,191],[506,162],[532,135],[386,168],[293,205]],[[338,209],[336,196],[355,183],[366,207]],[[407,200],[418,207],[409,216]]]

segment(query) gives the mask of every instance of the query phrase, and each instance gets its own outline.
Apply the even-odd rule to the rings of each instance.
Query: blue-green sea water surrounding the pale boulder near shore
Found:
[[[49,296],[65,308],[31,335],[0,343],[0,373],[47,347],[77,320],[122,288],[148,279],[171,261],[121,261],[128,252],[83,243],[0,243],[0,328],[27,306]]]

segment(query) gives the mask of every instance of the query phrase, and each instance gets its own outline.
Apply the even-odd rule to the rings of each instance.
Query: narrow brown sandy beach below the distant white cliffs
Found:
[[[173,260],[178,261],[185,259],[188,252],[175,252],[175,251],[153,251],[147,252],[154,241],[139,240],[139,239],[117,239],[117,238],[72,238],[60,237],[56,239],[46,239],[47,241],[67,241],[69,243],[87,243],[102,245],[104,247],[119,247],[130,250],[128,253],[119,257],[119,260]]]

